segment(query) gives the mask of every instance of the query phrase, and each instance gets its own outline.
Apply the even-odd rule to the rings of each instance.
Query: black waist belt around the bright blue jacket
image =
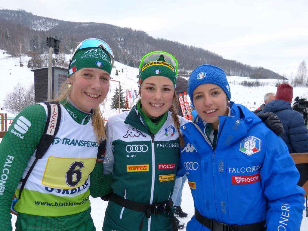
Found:
[[[208,227],[213,231],[264,231],[266,228],[264,227],[266,221],[260,221],[257,223],[249,224],[249,225],[228,225],[225,223],[217,222],[213,219],[209,219],[207,217],[203,217],[197,209],[195,209],[195,218],[196,220]]]

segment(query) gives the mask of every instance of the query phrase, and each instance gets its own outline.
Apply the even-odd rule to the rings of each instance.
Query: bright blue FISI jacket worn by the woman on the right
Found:
[[[267,220],[267,230],[299,231],[305,208],[299,173],[286,144],[246,107],[231,102],[231,116],[219,117],[216,149],[203,120],[181,127],[177,174],[186,173],[201,215],[226,224]],[[208,231],[195,216],[187,231]]]

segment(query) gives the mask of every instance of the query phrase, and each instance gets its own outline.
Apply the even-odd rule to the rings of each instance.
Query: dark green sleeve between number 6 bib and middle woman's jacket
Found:
[[[103,197],[112,192],[112,173],[103,175],[103,162],[96,162],[90,174],[90,195],[91,197]]]

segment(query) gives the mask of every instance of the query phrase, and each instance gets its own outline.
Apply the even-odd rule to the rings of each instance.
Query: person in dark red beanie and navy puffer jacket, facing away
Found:
[[[301,113],[291,108],[293,87],[282,83],[277,87],[275,100],[267,103],[263,112],[274,112],[281,120],[285,133],[280,137],[286,143],[290,153],[308,152],[308,132]],[[308,164],[296,164],[300,173],[298,185],[308,179]]]

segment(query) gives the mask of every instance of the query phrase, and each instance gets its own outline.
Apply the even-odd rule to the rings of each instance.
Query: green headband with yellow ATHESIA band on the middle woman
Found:
[[[156,75],[167,77],[172,81],[174,87],[176,86],[176,72],[174,67],[169,63],[166,63],[162,56],[157,61],[145,63],[141,67],[138,80],[139,86],[144,79]]]

